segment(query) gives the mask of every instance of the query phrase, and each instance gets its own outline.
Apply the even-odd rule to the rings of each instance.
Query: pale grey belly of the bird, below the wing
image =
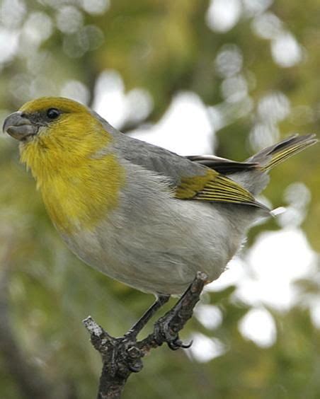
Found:
[[[113,279],[141,291],[181,294],[198,270],[211,281],[219,277],[253,219],[245,212],[242,223],[234,224],[232,207],[171,197],[154,205],[124,206],[93,231],[64,241]]]

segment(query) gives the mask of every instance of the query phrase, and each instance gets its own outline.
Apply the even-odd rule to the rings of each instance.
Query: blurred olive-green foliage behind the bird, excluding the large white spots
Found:
[[[319,1],[226,0],[225,8],[234,7],[229,26],[210,19],[210,9],[219,16],[219,4],[221,12],[219,0],[1,0],[0,117],[43,95],[93,104],[98,77],[115,70],[127,91],[143,88],[152,96],[139,124],[157,122],[179,91],[197,93],[208,115],[219,112],[219,123],[212,119],[219,156],[242,160],[280,135],[319,132]],[[1,300],[8,302],[11,333],[25,362],[63,388],[56,397],[93,398],[101,361],[81,319],[91,314],[122,335],[152,296],[69,253],[8,137],[0,138],[0,170],[0,271],[9,273]],[[319,146],[276,169],[265,196],[280,206],[295,182],[311,193],[302,228],[319,251]],[[262,229],[278,228],[273,220],[256,226],[249,243]],[[130,378],[124,398],[319,398],[320,332],[304,306],[308,296],[319,301],[318,280],[300,282],[300,306],[269,309],[277,326],[270,347],[239,332],[250,306],[236,300],[234,289],[208,293],[222,323],[207,329],[193,318],[183,334],[217,338],[224,354],[202,363],[158,349]],[[25,397],[1,352],[0,391],[1,398]]]

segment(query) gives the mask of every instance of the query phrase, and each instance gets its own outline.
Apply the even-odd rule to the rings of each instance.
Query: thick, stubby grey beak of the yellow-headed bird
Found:
[[[23,112],[18,111],[6,117],[2,129],[4,133],[10,134],[14,139],[23,141],[27,139],[27,137],[37,134],[39,127],[33,125],[30,120],[23,115]]]

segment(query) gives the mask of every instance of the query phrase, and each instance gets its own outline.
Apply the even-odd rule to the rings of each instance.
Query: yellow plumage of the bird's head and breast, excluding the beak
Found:
[[[21,161],[52,221],[64,233],[93,229],[117,205],[124,180],[115,155],[103,155],[113,137],[88,108],[67,98],[39,98],[19,112],[38,128],[21,142]]]

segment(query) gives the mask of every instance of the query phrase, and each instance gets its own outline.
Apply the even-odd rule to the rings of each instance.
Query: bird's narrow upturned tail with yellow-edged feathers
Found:
[[[298,136],[296,134],[261,150],[258,154],[249,158],[247,162],[258,163],[260,170],[268,172],[273,166],[285,161],[285,159],[297,154],[299,151],[312,146],[317,141],[318,139],[316,139],[315,134],[306,134],[305,136]]]

